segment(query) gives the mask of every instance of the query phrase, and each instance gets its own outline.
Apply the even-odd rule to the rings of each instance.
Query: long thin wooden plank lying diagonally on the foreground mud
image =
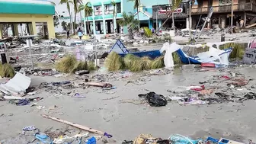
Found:
[[[87,126],[82,126],[82,125],[79,125],[79,124],[76,124],[76,123],[72,123],[72,122],[69,122],[69,121],[66,121],[66,120],[61,120],[59,118],[51,117],[51,116],[48,116],[46,114],[42,114],[41,116],[44,117],[44,118],[48,118],[48,119],[51,119],[51,120],[58,121],[60,123],[65,123],[65,124],[67,124],[69,126],[74,126],[74,127],[78,128],[78,129],[81,129],[81,130],[86,130],[88,132],[96,133],[96,134],[99,134],[99,135],[102,135],[102,136],[104,135],[103,132],[101,132],[99,130],[91,129],[90,127],[87,127]]]

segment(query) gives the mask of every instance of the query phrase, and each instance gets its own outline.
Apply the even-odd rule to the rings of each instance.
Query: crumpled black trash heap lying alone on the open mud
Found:
[[[167,104],[165,97],[161,94],[155,94],[155,92],[139,94],[138,96],[139,98],[144,98],[147,103],[152,107],[162,107]]]

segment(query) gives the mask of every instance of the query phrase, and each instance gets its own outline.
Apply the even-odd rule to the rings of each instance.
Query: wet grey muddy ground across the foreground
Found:
[[[200,85],[213,77],[213,75],[230,75],[231,72],[239,72],[246,78],[255,77],[254,67],[230,68],[219,71],[210,69],[208,72],[197,72],[197,69],[187,67],[174,69],[167,75],[148,75],[142,77],[136,83],[126,83],[139,78],[128,75],[121,78],[120,75],[112,76],[111,84],[117,89],[102,91],[101,88],[71,88],[62,89],[62,94],[47,89],[37,89],[37,94],[30,97],[42,97],[37,105],[44,106],[42,110],[37,107],[16,106],[9,104],[8,101],[0,101],[0,142],[8,139],[5,143],[26,143],[30,142],[33,135],[26,139],[17,139],[24,126],[36,126],[40,131],[53,127],[53,130],[66,127],[65,124],[48,120],[40,114],[48,114],[59,117],[83,126],[90,126],[96,130],[110,133],[117,143],[123,140],[133,140],[140,133],[150,133],[155,137],[167,139],[174,133],[179,133],[192,138],[206,138],[213,136],[216,138],[225,137],[248,143],[248,139],[256,141],[256,115],[254,110],[256,104],[254,100],[244,101],[243,103],[225,102],[222,104],[187,105],[181,106],[176,101],[171,101],[165,107],[150,107],[148,104],[137,104],[138,94],[155,91],[165,96],[175,96],[168,90],[178,86]],[[135,74],[140,75],[140,74]],[[31,85],[37,86],[41,82],[82,82],[81,76],[74,81],[74,77],[55,78],[31,76]],[[115,78],[119,78],[115,80]],[[248,85],[242,88],[251,89],[255,80],[251,80]],[[210,84],[205,84],[206,88]],[[226,88],[225,93],[229,94],[226,83],[216,83],[219,90]],[[218,90],[216,90],[218,91]],[[248,90],[249,91],[249,90]],[[72,98],[71,95],[78,92],[86,98]],[[245,91],[246,92],[246,91]],[[68,94],[70,93],[70,94]],[[242,95],[243,92],[237,91]],[[133,104],[133,103],[136,104]],[[56,108],[50,110],[50,107]],[[69,128],[72,128],[69,127]],[[11,142],[15,139],[15,142]],[[19,142],[19,140],[23,141]],[[101,143],[101,142],[98,142]]]

